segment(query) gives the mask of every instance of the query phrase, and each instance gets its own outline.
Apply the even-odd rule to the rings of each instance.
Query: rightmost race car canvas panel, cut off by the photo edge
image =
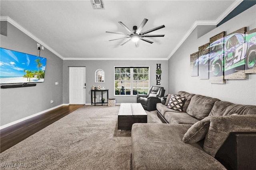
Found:
[[[245,33],[245,73],[256,73],[256,29]]]

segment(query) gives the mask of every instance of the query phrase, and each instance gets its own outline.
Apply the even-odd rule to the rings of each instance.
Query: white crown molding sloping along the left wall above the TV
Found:
[[[17,22],[15,22],[14,20],[12,20],[10,17],[8,16],[0,16],[0,21],[8,21],[9,23],[11,23],[12,25],[14,25],[14,27],[20,29],[20,31],[22,31],[23,33],[25,33],[26,35],[28,35],[30,38],[34,39],[36,42],[38,42],[39,44],[41,44],[42,46],[44,46],[45,48],[47,48],[49,51],[51,51],[52,53],[54,53],[56,56],[60,57],[62,60],[64,59],[64,57],[62,57],[62,55],[60,55],[59,53],[57,53],[56,51],[54,51],[54,49],[52,49],[51,47],[49,47],[46,43],[44,43],[43,41],[41,41],[40,39],[38,39],[36,36],[34,36],[32,33],[30,33],[28,30],[26,30],[24,27],[22,27],[20,24],[18,24]]]

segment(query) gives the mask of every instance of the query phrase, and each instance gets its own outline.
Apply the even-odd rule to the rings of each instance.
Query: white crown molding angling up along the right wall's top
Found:
[[[176,45],[176,47],[174,47],[174,49],[172,50],[172,52],[170,53],[170,55],[168,56],[167,60],[169,60],[172,55],[174,55],[174,53],[180,48],[180,46],[182,45],[182,43],[184,43],[184,41],[188,38],[188,36],[192,33],[192,31],[194,31],[194,29],[198,26],[198,25],[217,25],[220,21],[222,21],[230,12],[232,12],[243,0],[236,0],[223,14],[221,14],[219,16],[219,18],[215,21],[195,21],[193,23],[193,25],[190,27],[190,29],[188,29],[188,31],[186,32],[186,34],[182,37],[182,39],[180,40],[180,42]]]

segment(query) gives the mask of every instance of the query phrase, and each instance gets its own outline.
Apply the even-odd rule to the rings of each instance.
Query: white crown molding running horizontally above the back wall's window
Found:
[[[167,61],[168,59],[167,58],[64,58],[63,60],[150,60],[150,61],[154,61],[154,60],[165,60]]]

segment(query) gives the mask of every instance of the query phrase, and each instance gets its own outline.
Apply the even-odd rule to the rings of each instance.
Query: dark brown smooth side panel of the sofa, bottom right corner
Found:
[[[256,132],[232,132],[215,158],[227,169],[256,169]]]

